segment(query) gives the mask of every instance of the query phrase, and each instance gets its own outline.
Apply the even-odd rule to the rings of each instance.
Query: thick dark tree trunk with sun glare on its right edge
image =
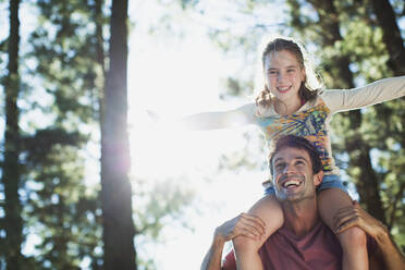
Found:
[[[109,49],[110,66],[106,78],[101,131],[101,201],[106,270],[136,269],[132,189],[128,181],[126,24],[127,0],[113,0]]]

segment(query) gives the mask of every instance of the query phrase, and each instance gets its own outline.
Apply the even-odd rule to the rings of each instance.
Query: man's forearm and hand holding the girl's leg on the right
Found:
[[[390,237],[386,226],[366,212],[357,201],[353,208],[341,209],[335,221],[336,233],[356,225],[376,240],[378,249],[370,258],[370,269],[405,269],[405,257]]]

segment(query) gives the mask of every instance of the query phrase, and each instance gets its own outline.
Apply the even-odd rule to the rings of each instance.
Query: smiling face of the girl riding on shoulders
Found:
[[[265,57],[266,84],[270,93],[283,102],[300,101],[299,87],[305,70],[287,50],[273,51]]]

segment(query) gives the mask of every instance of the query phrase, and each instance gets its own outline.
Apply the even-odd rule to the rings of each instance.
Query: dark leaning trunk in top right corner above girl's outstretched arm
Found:
[[[371,0],[377,21],[382,28],[382,39],[390,54],[388,65],[395,76],[405,74],[405,47],[401,30],[396,24],[395,13],[388,0]]]

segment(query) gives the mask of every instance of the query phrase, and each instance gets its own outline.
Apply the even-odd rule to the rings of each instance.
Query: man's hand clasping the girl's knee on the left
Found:
[[[238,235],[244,235],[253,240],[260,238],[265,233],[265,222],[256,216],[241,213],[236,218],[226,221],[216,230],[217,237],[223,242],[231,241]]]

